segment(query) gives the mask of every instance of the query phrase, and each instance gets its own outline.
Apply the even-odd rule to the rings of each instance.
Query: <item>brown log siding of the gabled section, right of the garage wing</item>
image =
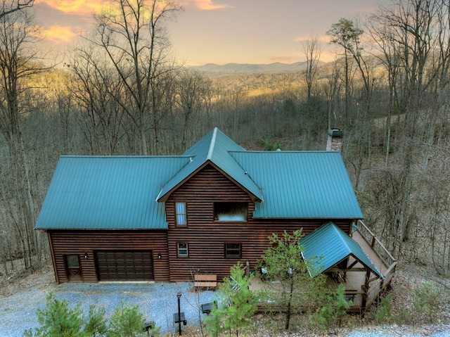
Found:
[[[175,203],[186,202],[188,225],[176,227]],[[214,222],[215,202],[248,203],[247,222]],[[255,203],[248,193],[229,180],[213,165],[203,167],[187,182],[176,189],[166,202],[169,231],[167,243],[170,260],[170,281],[192,281],[195,273],[217,274],[221,280],[229,275],[229,269],[239,260],[250,269],[255,268],[264,251],[269,248],[273,233],[283,234],[303,229],[309,234],[328,220],[258,220],[252,218]],[[351,220],[334,220],[342,230],[349,233]],[[188,257],[178,257],[176,243],[188,243]],[[225,257],[225,243],[240,243],[240,258]],[[156,272],[156,267],[155,267]]]

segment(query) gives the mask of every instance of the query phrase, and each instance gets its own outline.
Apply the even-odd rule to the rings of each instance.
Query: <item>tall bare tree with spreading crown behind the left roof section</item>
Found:
[[[179,11],[172,1],[114,0],[108,11],[94,15],[96,35],[86,38],[100,47],[126,91],[115,100],[134,120],[141,137],[141,154],[148,153],[147,117],[153,122],[153,144],[158,149],[159,125],[155,87],[173,69],[163,20]]]

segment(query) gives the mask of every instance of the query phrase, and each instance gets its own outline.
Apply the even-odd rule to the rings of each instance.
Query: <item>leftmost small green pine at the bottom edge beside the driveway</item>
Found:
[[[82,336],[82,309],[81,303],[69,309],[68,300],[58,300],[54,293],[46,296],[45,309],[37,310],[39,328],[28,329],[25,337],[79,337]]]

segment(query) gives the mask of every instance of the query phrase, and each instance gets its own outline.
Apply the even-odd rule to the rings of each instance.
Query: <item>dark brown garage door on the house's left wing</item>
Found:
[[[99,281],[153,281],[151,250],[98,250]]]

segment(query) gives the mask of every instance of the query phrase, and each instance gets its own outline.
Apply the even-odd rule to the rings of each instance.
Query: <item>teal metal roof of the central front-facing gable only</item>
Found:
[[[229,136],[226,136],[219,129],[214,128],[209,134],[189,148],[184,156],[191,158],[191,163],[186,165],[175,177],[169,180],[162,188],[157,198],[158,201],[165,201],[171,191],[181,184],[187,177],[196,172],[200,167],[210,162],[219,167],[231,179],[235,180],[243,189],[246,189],[257,201],[262,201],[262,194],[259,186],[250,179],[245,170],[239,166],[236,160],[230,155],[230,151],[245,151],[244,148],[236,144]]]

